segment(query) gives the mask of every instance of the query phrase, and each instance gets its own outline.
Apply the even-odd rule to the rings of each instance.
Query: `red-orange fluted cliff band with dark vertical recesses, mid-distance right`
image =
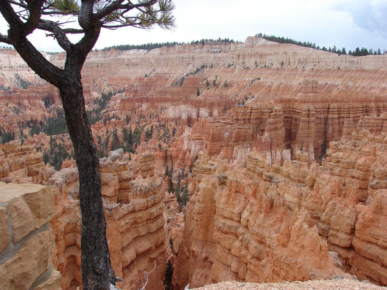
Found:
[[[310,100],[307,98],[279,99],[274,103],[233,106],[224,117],[199,118],[192,128],[181,127],[184,133],[175,139],[170,154],[178,162],[192,164],[200,150],[210,156],[237,159],[240,147],[249,152],[271,150],[271,162],[277,152],[291,149],[295,159],[297,148],[313,145],[314,158],[320,160],[322,147],[329,142],[350,137],[353,130],[366,128],[380,134],[385,128],[387,102],[340,98]],[[239,147],[238,147],[239,146]],[[313,158],[312,158],[313,159]]]

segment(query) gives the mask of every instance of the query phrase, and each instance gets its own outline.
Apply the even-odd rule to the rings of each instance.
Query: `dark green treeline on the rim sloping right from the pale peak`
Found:
[[[342,49],[337,49],[336,45],[334,45],[333,48],[330,48],[330,47],[326,48],[325,46],[320,48],[320,46],[316,46],[315,43],[311,43],[309,41],[308,42],[305,42],[305,41],[301,42],[301,41],[296,41],[296,40],[291,39],[291,38],[277,37],[274,35],[269,36],[269,35],[262,34],[262,33],[255,34],[255,37],[264,38],[264,39],[274,41],[277,43],[296,44],[296,45],[303,46],[303,47],[310,47],[310,48],[314,48],[314,49],[329,51],[332,53],[337,53],[338,55],[346,55],[347,54],[346,49],[344,47]],[[384,49],[383,54],[385,54],[385,51],[386,50]],[[348,55],[353,55],[353,56],[381,55],[381,54],[382,54],[382,51],[380,50],[380,48],[375,49],[375,50],[373,50],[372,48],[371,49],[356,48],[354,51],[348,51]]]

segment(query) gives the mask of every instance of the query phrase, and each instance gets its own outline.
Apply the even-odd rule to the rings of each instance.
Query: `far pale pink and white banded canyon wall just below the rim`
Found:
[[[65,54],[45,57],[62,67]],[[245,43],[209,41],[151,51],[92,51],[82,80],[88,109],[96,107],[94,100],[101,92],[125,89],[112,97],[109,114],[120,118],[135,115],[141,124],[163,114],[171,117],[170,122],[181,119],[184,126],[191,127],[194,114],[164,111],[188,105],[196,110],[196,118],[216,118],[224,116],[231,105],[243,102],[325,102],[324,98],[347,103],[359,99],[378,107],[378,98],[386,95],[386,63],[384,55],[338,56],[249,37]],[[27,134],[31,120],[43,119],[51,106],[60,106],[57,91],[39,80],[12,49],[0,49],[0,67],[5,85],[0,91],[0,115],[4,116],[0,123],[5,131],[17,125]],[[22,89],[25,83],[27,88]],[[180,133],[184,131],[182,128]]]

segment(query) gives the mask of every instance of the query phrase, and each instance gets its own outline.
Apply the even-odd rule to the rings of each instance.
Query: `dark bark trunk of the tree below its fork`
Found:
[[[67,73],[66,77],[59,93],[79,172],[82,284],[84,290],[108,290],[110,283],[115,285],[115,275],[106,239],[99,158],[87,119],[80,72]]]

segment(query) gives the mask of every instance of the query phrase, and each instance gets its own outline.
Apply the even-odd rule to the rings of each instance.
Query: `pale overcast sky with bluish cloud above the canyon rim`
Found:
[[[245,41],[263,34],[309,41],[322,47],[387,49],[387,0],[174,0],[176,28],[146,31],[103,29],[94,48],[118,44],[190,42],[202,38]],[[0,20],[0,33],[7,23]],[[43,51],[61,51],[43,32],[29,39]],[[0,44],[1,45],[1,44]]]

